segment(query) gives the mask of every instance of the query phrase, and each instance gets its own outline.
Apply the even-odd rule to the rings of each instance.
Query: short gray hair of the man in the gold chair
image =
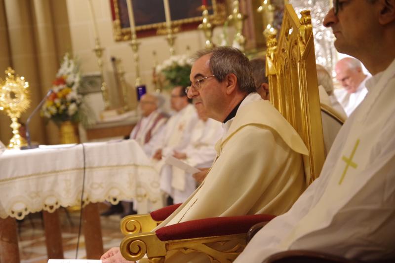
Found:
[[[229,74],[235,74],[241,92],[251,93],[255,91],[251,65],[248,58],[240,50],[229,46],[203,49],[197,51],[191,57],[191,60],[195,62],[207,54],[211,54],[209,69],[218,81],[223,81]]]

